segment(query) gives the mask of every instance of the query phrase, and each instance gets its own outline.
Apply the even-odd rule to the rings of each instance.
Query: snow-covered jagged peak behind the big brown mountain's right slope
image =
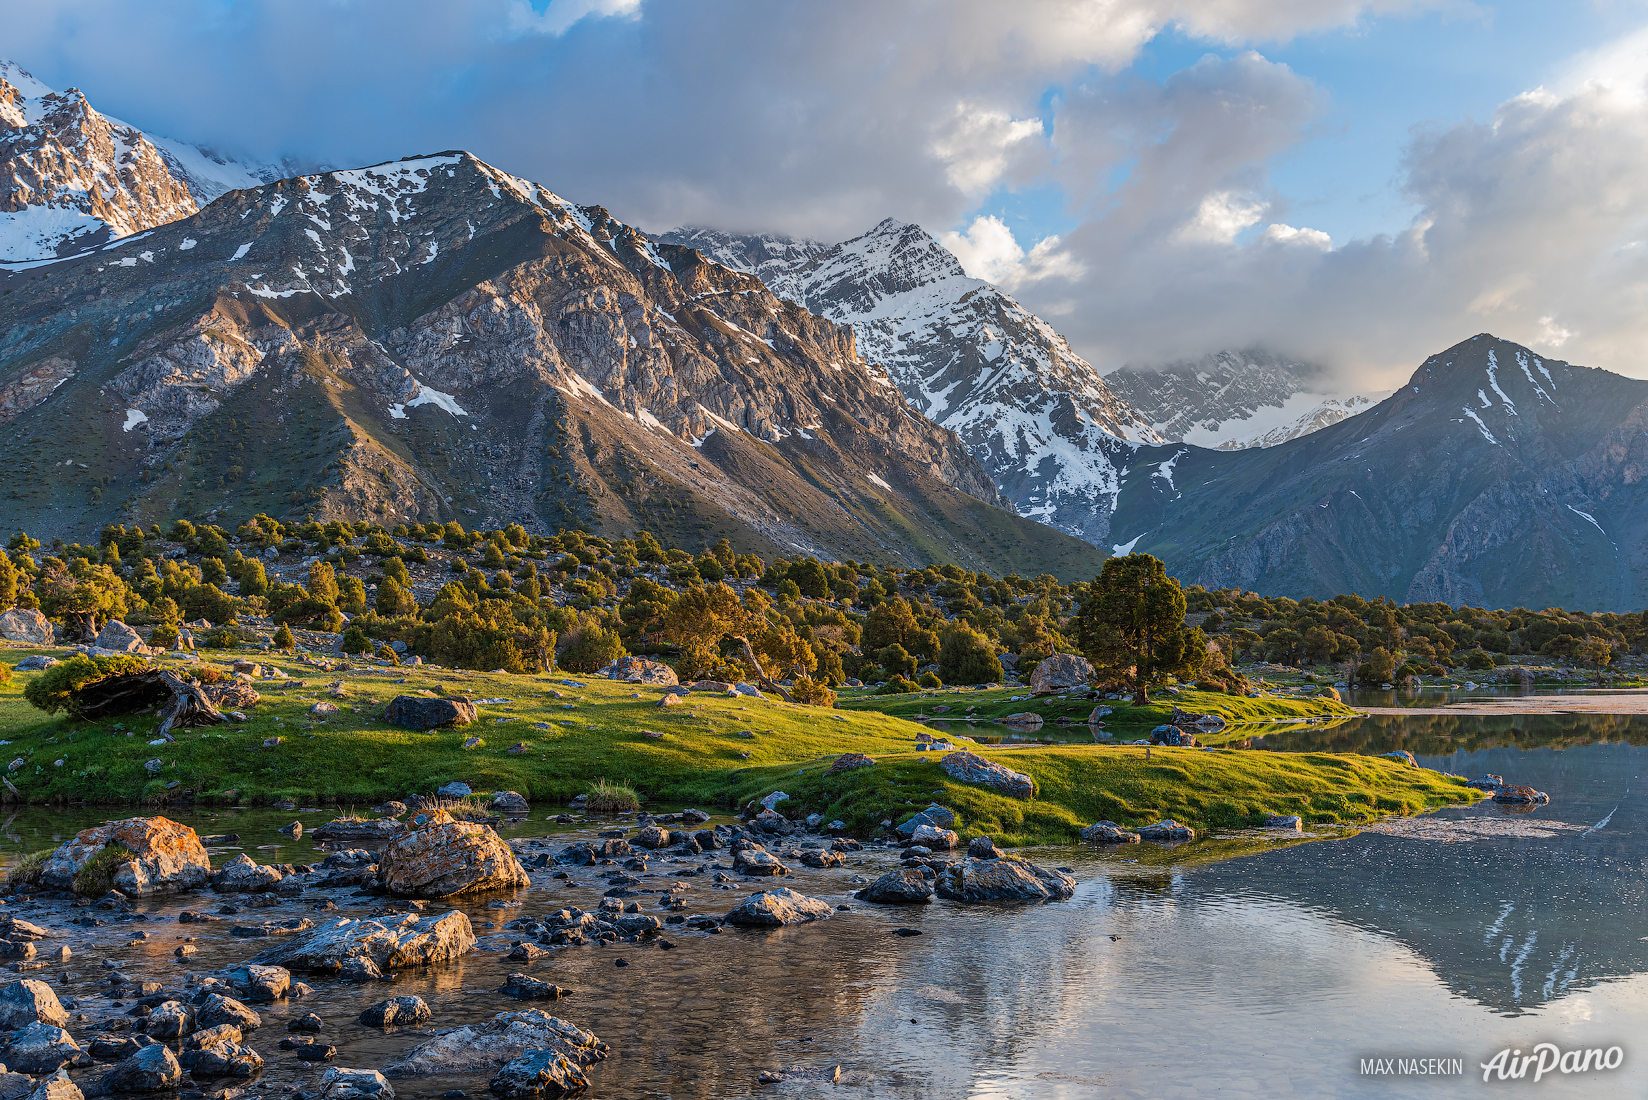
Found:
[[[1103,546],[1117,470],[1135,442],[1162,440],[1051,325],[967,277],[920,226],[888,218],[829,247],[709,229],[661,239],[850,325],[864,358],[954,430],[1022,516]]]

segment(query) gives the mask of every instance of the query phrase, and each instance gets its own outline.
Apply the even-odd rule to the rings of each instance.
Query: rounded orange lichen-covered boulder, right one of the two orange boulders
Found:
[[[400,897],[452,897],[529,884],[526,869],[498,833],[425,810],[407,821],[377,861],[377,877]]]

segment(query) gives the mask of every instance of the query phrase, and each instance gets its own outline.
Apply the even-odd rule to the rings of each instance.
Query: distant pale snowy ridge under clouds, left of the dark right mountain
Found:
[[[1264,348],[1122,366],[1104,381],[1165,442],[1223,450],[1276,447],[1373,404],[1369,397],[1325,394],[1320,364]]]

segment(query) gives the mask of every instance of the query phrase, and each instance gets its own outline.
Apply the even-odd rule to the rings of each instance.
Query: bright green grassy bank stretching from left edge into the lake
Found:
[[[63,655],[10,650],[3,660],[15,663],[36,651]],[[710,693],[659,707],[658,688],[595,676],[361,661],[351,661],[349,670],[333,663],[326,671],[293,656],[249,656],[280,668],[288,679],[259,679],[262,703],[247,711],[246,722],[178,731],[175,744],[162,745],[148,744],[157,724],[152,714],[94,724],[33,709],[23,701],[23,686],[38,673],[18,673],[0,686],[0,739],[8,742],[0,750],[7,762],[23,760],[7,770],[18,792],[13,798],[150,808],[188,798],[216,806],[368,806],[463,780],[478,792],[516,790],[536,803],[559,803],[608,778],[634,787],[654,805],[717,810],[784,790],[789,801],[783,808],[791,816],[804,810],[826,821],[840,818],[855,834],[941,801],[956,810],[966,833],[992,833],[1007,844],[1071,841],[1099,818],[1144,825],[1172,816],[1200,830],[1257,825],[1269,813],[1355,823],[1475,798],[1435,772],[1378,757],[1155,749],[1145,760],[1144,749],[1103,744],[967,745],[953,726],[953,740],[1035,778],[1038,797],[1020,801],[949,780],[938,754],[916,752],[921,727],[898,717],[906,706],[931,709],[938,694],[959,707],[982,701],[981,709],[984,703],[992,711],[1023,709],[1005,701],[1010,691],[877,699],[892,712],[870,709],[864,699],[824,709]],[[203,656],[209,665],[227,660],[232,655]],[[183,666],[171,658],[160,663]],[[333,683],[341,683],[341,696],[331,694]],[[389,699],[420,689],[481,701],[480,721],[424,734],[381,719]],[[1215,709],[1210,699],[1256,714],[1284,707],[1292,717],[1330,706],[1203,693],[1173,701],[1200,711]],[[316,703],[338,711],[315,714]],[[1160,712],[1167,709],[1163,703]],[[1159,716],[1152,707],[1152,714],[1135,717],[1154,722]],[[274,737],[280,742],[264,744]],[[465,749],[470,737],[481,744]],[[522,749],[511,752],[514,745]],[[877,765],[826,775],[844,752],[868,754]],[[155,773],[145,769],[147,760],[160,760]]]

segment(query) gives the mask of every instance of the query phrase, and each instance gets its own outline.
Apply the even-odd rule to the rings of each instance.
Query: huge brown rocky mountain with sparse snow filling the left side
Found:
[[[468,153],[0,272],[0,524],[265,510],[1091,576],[852,331]]]

